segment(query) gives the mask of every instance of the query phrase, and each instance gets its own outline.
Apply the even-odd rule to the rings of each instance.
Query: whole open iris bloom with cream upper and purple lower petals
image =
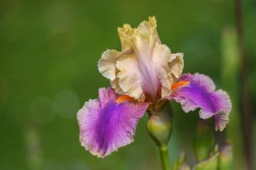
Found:
[[[181,74],[183,53],[171,53],[161,43],[156,19],[149,17],[138,28],[118,28],[122,50],[103,52],[100,73],[111,86],[99,89],[99,98],[90,99],[78,111],[80,142],[97,157],[105,157],[133,142],[135,129],[146,111],[158,111],[164,102],[181,103],[188,113],[196,108],[200,118],[214,117],[215,129],[228,123],[231,102],[204,74]]]

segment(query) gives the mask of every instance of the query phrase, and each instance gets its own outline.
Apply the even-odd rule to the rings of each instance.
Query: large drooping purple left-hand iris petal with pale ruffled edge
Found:
[[[135,128],[149,103],[115,94],[112,88],[100,89],[99,98],[85,102],[78,111],[78,123],[81,145],[105,157],[134,141]]]

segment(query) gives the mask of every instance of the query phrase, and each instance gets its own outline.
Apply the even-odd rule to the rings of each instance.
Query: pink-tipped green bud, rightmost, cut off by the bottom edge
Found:
[[[232,145],[230,141],[225,142],[225,146],[220,151],[218,170],[232,170],[233,169],[233,155]]]

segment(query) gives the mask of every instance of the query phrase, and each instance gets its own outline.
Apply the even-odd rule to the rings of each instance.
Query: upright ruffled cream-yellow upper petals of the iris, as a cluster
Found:
[[[171,54],[169,47],[161,44],[155,17],[149,17],[138,28],[124,24],[118,33],[122,52],[107,50],[98,63],[116,93],[154,104],[169,96],[171,84],[181,76],[183,54]]]

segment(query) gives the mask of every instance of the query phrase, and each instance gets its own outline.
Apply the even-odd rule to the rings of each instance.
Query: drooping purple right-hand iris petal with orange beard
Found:
[[[189,83],[187,83],[189,82]],[[219,89],[215,91],[215,84],[204,74],[182,74],[178,85],[173,85],[173,93],[167,98],[181,103],[183,111],[188,113],[196,108],[200,118],[215,118],[215,129],[222,131],[228,123],[232,104],[228,94]]]

